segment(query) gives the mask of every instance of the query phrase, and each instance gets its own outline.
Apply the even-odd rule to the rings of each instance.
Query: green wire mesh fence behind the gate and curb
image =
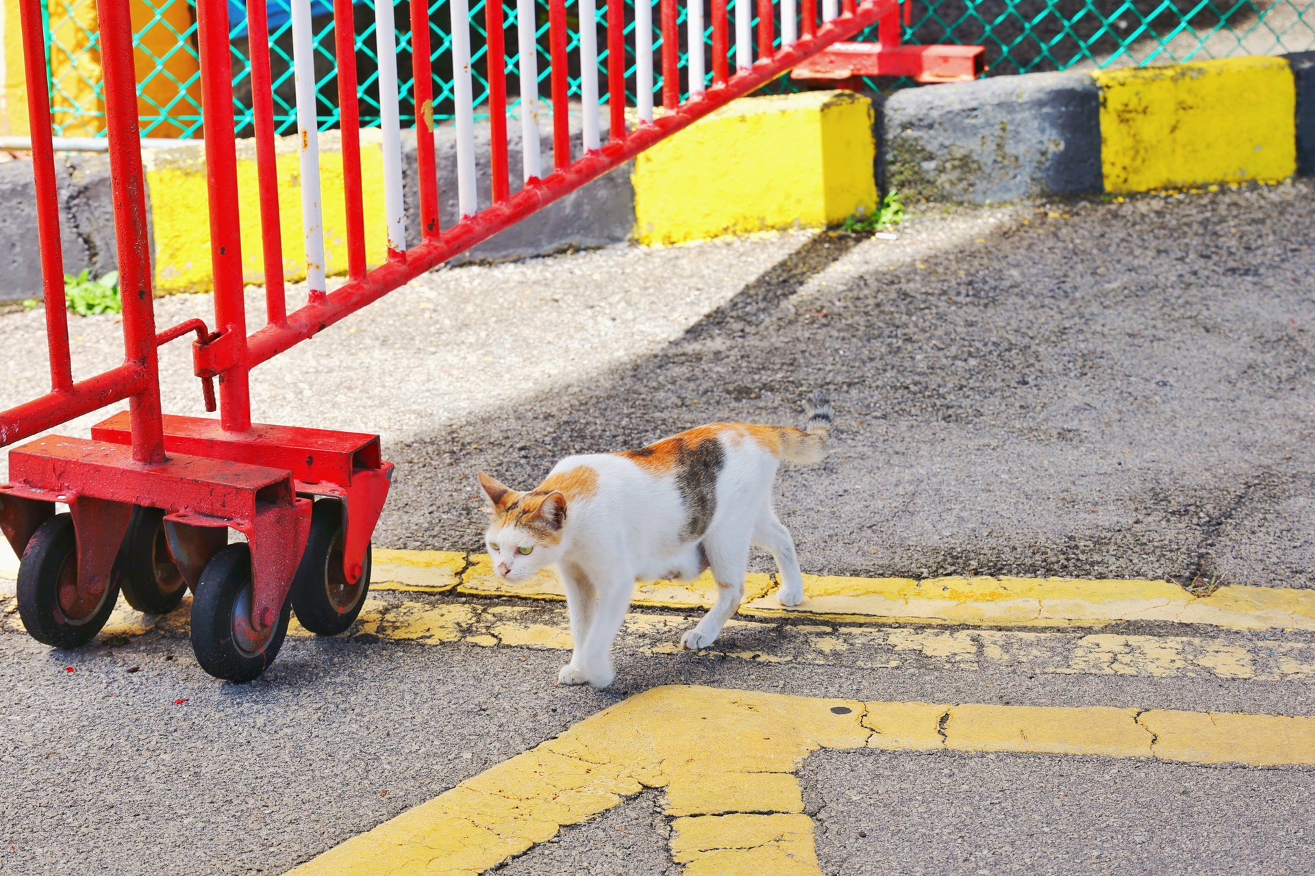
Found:
[[[736,1],[732,0],[731,9]],[[1107,68],[1162,64],[1224,58],[1273,55],[1315,49],[1315,0],[913,0],[913,25],[905,29],[911,43],[961,43],[986,47],[989,75],[1041,70]],[[237,0],[237,9],[242,9]],[[604,5],[604,4],[600,4]],[[819,4],[821,5],[821,4]],[[99,25],[95,0],[46,0],[49,70],[57,134],[87,137],[103,134]],[[271,3],[274,7],[274,3]],[[571,93],[580,93],[577,20],[571,12]],[[709,20],[705,11],[705,21]],[[627,84],[634,100],[634,58],[630,38],[634,0],[626,0]],[[732,12],[734,14],[734,12]],[[394,4],[398,26],[398,76],[402,125],[414,121],[412,100],[412,50],[409,0]],[[548,43],[547,0],[538,5],[539,93],[547,93]],[[604,17],[600,12],[600,17]],[[514,3],[504,4],[508,50],[514,51],[517,16]],[[274,74],[275,123],[280,134],[296,130],[293,97],[292,28],[272,16],[271,66]],[[375,56],[373,8],[355,7],[356,63],[362,84],[363,125],[379,123],[377,59]],[[656,20],[656,14],[655,14]],[[475,50],[475,101],[488,99],[484,46],[484,0],[471,8]],[[600,22],[602,24],[602,22]],[[142,134],[147,137],[199,137],[201,133],[200,74],[196,54],[196,9],[189,0],[133,0],[133,25],[138,50],[138,109]],[[451,118],[452,71],[447,0],[430,1],[437,118]],[[600,50],[606,39],[600,26]],[[864,38],[874,39],[874,29]],[[681,68],[688,64],[684,11],[681,11]],[[661,39],[655,34],[656,47]],[[705,70],[711,71],[711,30],[701,50]],[[333,18],[316,18],[316,77],[321,129],[338,126]],[[600,68],[608,67],[600,51]],[[709,74],[710,79],[710,74]],[[234,113],[239,137],[252,133],[251,77],[245,22],[235,21],[233,39]],[[907,85],[899,80],[876,80],[876,91]],[[658,77],[660,88],[661,79]],[[601,87],[606,89],[605,76]],[[792,91],[789,77],[765,91]],[[509,59],[508,89],[519,93],[519,70]],[[514,109],[514,101],[513,101]]]

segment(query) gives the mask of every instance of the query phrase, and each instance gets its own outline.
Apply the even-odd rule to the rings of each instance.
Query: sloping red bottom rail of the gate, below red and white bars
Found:
[[[586,183],[602,176],[635,158],[654,143],[688,127],[704,116],[719,109],[767,83],[790,67],[831,43],[847,39],[872,26],[896,8],[896,0],[869,0],[859,4],[853,14],[844,14],[822,25],[813,37],[801,38],[794,46],[782,47],[771,60],[763,60],[751,70],[731,76],[725,85],[713,85],[702,96],[689,100],[677,109],[640,125],[622,139],[614,139],[597,152],[558,169],[547,179],[526,185],[501,204],[462,219],[438,239],[408,250],[404,257],[391,260],[360,280],[350,281],[322,301],[312,302],[289,314],[284,326],[266,326],[251,335],[246,364],[255,368],[366,305],[379,301],[389,292],[443,264],[452,256],[488,240],[544,206],[565,197]]]

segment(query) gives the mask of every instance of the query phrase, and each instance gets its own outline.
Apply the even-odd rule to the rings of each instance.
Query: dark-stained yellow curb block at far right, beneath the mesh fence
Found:
[[[1297,172],[1297,85],[1282,58],[1095,74],[1107,192]]]

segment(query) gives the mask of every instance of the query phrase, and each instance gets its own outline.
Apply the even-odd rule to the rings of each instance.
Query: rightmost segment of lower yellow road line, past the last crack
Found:
[[[1155,754],[1165,760],[1257,767],[1315,763],[1315,717],[1152,709],[1137,722],[1155,734]]]

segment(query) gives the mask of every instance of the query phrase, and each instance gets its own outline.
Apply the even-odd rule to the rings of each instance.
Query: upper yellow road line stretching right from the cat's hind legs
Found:
[[[805,599],[781,605],[775,592],[746,603],[752,617],[976,626],[1098,626],[1134,620],[1235,629],[1315,629],[1315,591],[1220,587],[1193,596],[1166,580],[1073,578],[803,577]]]

